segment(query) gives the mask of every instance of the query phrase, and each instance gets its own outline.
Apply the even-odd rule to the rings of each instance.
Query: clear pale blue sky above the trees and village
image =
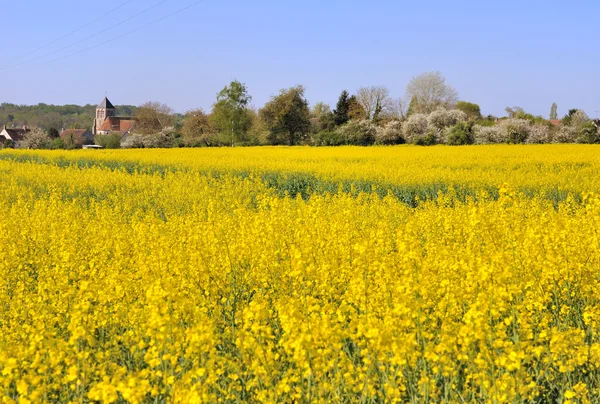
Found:
[[[332,106],[342,89],[384,85],[404,94],[410,78],[441,71],[460,98],[501,115],[518,105],[547,116],[582,108],[600,116],[600,2],[205,0],[111,43],[94,46],[195,0],[132,0],[117,12],[38,52],[126,0],[7,0],[2,7],[0,102],[165,102],[210,109],[231,79],[253,104],[302,84],[311,104]]]

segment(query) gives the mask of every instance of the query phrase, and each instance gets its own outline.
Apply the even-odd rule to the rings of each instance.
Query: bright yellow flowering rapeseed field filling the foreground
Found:
[[[600,148],[0,151],[0,402],[600,402]]]

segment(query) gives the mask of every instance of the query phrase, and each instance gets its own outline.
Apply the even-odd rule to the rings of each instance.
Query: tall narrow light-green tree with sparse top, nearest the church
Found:
[[[252,117],[248,114],[248,104],[252,97],[248,95],[246,85],[237,80],[229,83],[217,94],[217,102],[210,115],[211,124],[221,133],[222,138],[246,142]]]

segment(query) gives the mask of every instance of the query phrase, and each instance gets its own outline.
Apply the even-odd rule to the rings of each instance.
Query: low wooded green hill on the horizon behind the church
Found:
[[[119,115],[133,116],[137,107],[133,105],[116,105]],[[96,115],[96,105],[17,105],[0,104],[0,127],[39,126],[42,129],[92,127]]]

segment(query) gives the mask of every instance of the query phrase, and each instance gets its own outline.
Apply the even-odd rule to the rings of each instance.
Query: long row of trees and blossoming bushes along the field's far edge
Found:
[[[570,109],[560,120],[556,103],[550,119],[520,107],[506,108],[506,116],[500,118],[483,116],[479,105],[459,99],[440,72],[415,76],[399,99],[392,98],[386,87],[370,86],[354,94],[343,90],[334,108],[323,102],[310,107],[304,88],[296,86],[281,90],[260,109],[251,101],[246,85],[233,80],[217,94],[209,112],[199,108],[181,115],[165,104],[149,102],[130,109],[137,121],[135,133],[126,139],[116,133],[100,135],[96,142],[128,148],[600,143],[599,122],[580,109]],[[0,117],[2,113],[0,108]],[[51,128],[47,135],[56,137],[50,132]],[[43,131],[37,134],[42,137]],[[61,146],[60,141],[54,143]],[[77,147],[77,142],[70,145]]]

